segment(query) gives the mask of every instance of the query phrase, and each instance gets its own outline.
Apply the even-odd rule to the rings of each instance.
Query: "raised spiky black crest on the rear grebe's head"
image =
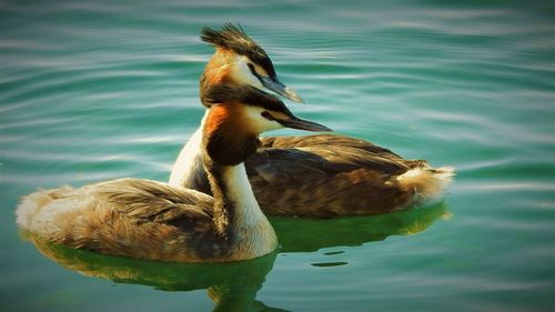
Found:
[[[246,36],[240,24],[234,26],[228,22],[220,30],[204,27],[201,30],[201,40],[212,43],[215,47],[233,50],[238,54],[245,56],[251,59],[251,61],[264,68],[271,77],[275,76],[272,61],[264,49]]]

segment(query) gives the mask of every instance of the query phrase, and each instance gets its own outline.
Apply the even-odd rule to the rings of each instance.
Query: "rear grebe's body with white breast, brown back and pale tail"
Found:
[[[198,134],[193,134],[194,135]],[[190,140],[174,163],[170,185],[210,193]],[[405,160],[364,140],[336,134],[262,138],[246,174],[269,214],[330,218],[384,213],[437,199],[453,169]]]

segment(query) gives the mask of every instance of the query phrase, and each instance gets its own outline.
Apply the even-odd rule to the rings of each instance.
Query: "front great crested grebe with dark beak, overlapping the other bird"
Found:
[[[330,131],[297,119],[274,95],[252,87],[209,88],[203,164],[213,198],[141,179],[119,179],[23,198],[17,222],[40,238],[75,249],[162,261],[245,260],[278,246],[256,203],[244,160],[261,132]]]

